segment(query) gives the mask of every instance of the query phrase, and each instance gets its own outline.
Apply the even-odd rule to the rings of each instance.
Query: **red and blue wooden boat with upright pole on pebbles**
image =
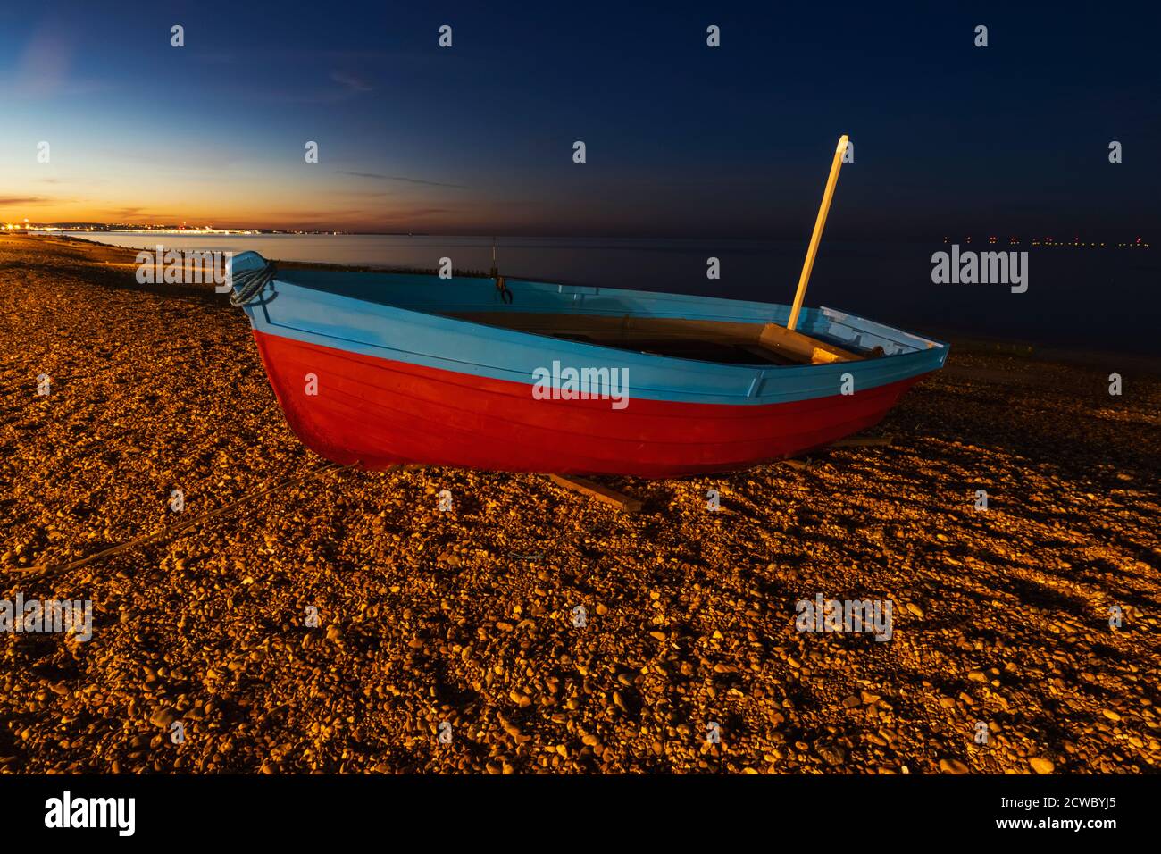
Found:
[[[233,259],[287,421],[326,459],[642,478],[830,444],[943,366],[945,344],[802,309],[808,274],[786,306]]]

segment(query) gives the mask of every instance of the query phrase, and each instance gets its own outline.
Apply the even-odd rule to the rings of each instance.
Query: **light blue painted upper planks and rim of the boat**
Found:
[[[247,258],[247,256],[252,256]],[[261,264],[235,258],[235,270]],[[671,317],[785,325],[789,306],[713,296],[659,294],[507,280],[510,310]],[[553,361],[574,368],[628,368],[630,397],[686,403],[766,406],[829,397],[843,374],[854,390],[940,368],[947,345],[830,308],[806,308],[799,330],[839,346],[881,346],[886,356],[830,365],[726,365],[616,350],[599,344],[485,325],[444,316],[509,309],[489,279],[280,270],[260,300],[246,306],[253,328],[308,344],[528,385]],[[531,393],[531,392],[529,392]]]

